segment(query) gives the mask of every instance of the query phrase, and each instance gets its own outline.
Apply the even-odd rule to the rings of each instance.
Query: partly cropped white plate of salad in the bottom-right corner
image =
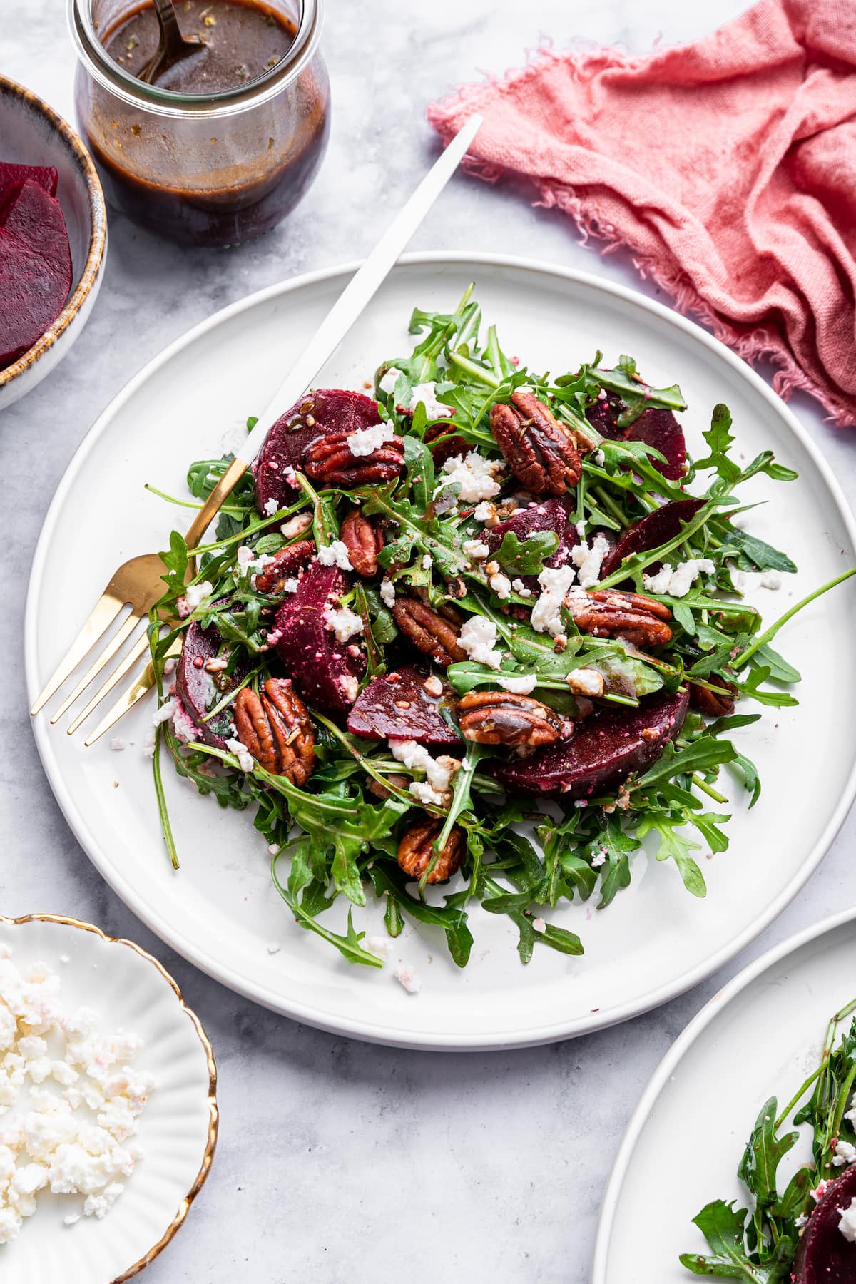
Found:
[[[792,936],[734,977],[660,1063],[628,1126],[601,1210],[592,1284],[687,1284],[706,1253],[692,1219],[740,1201],[737,1166],[758,1109],[819,1064],[826,1022],[856,995],[856,910]],[[805,1132],[805,1130],[803,1130]],[[802,1136],[782,1180],[811,1156]]]

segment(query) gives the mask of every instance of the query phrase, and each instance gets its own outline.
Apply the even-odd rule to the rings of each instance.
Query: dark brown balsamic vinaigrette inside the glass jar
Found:
[[[182,33],[204,41],[199,54],[155,81],[159,89],[178,94],[207,96],[241,87],[276,67],[296,35],[294,24],[264,0],[178,0],[176,13]],[[150,0],[104,32],[101,44],[123,71],[139,73],[158,44]],[[157,118],[151,126],[141,119],[124,140],[116,134],[117,127],[121,131],[116,121],[87,122],[87,141],[110,204],[141,226],[185,244],[236,244],[275,227],[312,182],[327,140],[326,77],[311,67],[281,99],[203,126],[204,132],[213,131],[210,139],[200,139],[194,122],[187,178],[166,176],[160,140],[154,136]],[[98,125],[103,128],[92,127]],[[218,143],[218,130],[231,134],[226,164],[207,162],[205,144]]]

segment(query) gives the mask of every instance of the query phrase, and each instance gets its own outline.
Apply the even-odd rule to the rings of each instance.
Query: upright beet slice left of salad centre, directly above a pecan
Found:
[[[309,705],[334,714],[348,713],[366,672],[358,637],[338,642],[325,620],[327,607],[338,607],[348,587],[338,566],[314,562],[276,612],[276,650],[289,677]]]

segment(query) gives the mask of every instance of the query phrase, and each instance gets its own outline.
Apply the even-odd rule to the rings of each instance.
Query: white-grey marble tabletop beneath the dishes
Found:
[[[17,8],[27,21],[4,23],[0,71],[71,117],[64,0],[17,0]],[[644,51],[657,40],[699,36],[743,8],[742,0],[329,0],[332,137],[312,199],[266,239],[218,253],[176,249],[114,217],[104,288],[72,358],[0,417],[0,912],[73,914],[151,949],[217,1050],[217,1162],[146,1284],[280,1284],[304,1272],[318,1284],[583,1284],[612,1153],[662,1054],[751,958],[852,901],[853,815],[798,901],[751,949],[646,1017],[511,1054],[390,1052],[335,1039],[222,989],[141,927],[54,804],[23,690],[24,594],[44,514],[78,442],[130,375],[223,304],[367,250],[385,209],[435,154],[426,101],[456,82],[518,65],[547,37],[557,46],[583,39]],[[560,214],[530,200],[513,184],[492,189],[458,177],[415,248],[518,250],[638,284],[626,259],[580,247]],[[794,408],[856,493],[856,438],[824,425],[809,401]]]

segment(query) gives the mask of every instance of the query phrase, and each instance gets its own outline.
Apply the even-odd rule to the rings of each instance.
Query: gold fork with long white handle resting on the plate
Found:
[[[332,356],[340,342],[350,330],[352,325],[366,306],[373,298],[381,282],[395,266],[395,262],[409,241],[411,236],[420,226],[429,209],[440,195],[447,182],[463,159],[467,148],[479,132],[481,117],[471,116],[458,130],[445,152],[435,160],[418,187],[400,209],[393,223],[363,262],[358,272],[350,279],[343,293],[339,295],[332,308],[321,322],[314,336],[295,362],[284,384],[277,389],[267,408],[253,426],[249,435],[240,447],[240,457],[235,458],[221,480],[217,483],[210,496],[200,508],[186,535],[187,548],[195,548],[208,529],[210,521],[219,511],[221,505],[235,489],[240,479],[246,473],[249,462],[255,458],[264,439],[280,416],[281,407],[291,406],[300,399],[312,380],[318,374],[323,363]],[[47,701],[56,695],[60,687],[72,677],[78,665],[86,659],[95,643],[104,636],[110,624],[118,618],[121,611],[130,606],[130,615],[122,621],[119,629],[109,639],[98,659],[90,665],[87,672],[74,684],[73,690],[63,700],[50,722],[56,723],[72,705],[83,695],[86,688],[105,669],[105,666],[118,656],[124,643],[139,630],[140,625],[148,621],[149,611],[166,592],[163,577],[167,573],[158,553],[142,553],[131,557],[113,573],[109,584],[95,605],[95,610],[87,619],[80,634],[71,645],[68,652],[45,683],[45,687],[36,697],[32,706],[32,715],[40,713]],[[169,623],[169,621],[166,621]],[[99,687],[85,707],[73,718],[68,725],[68,734],[72,736],[78,727],[86,722],[90,714],[113,691],[113,688],[133,669],[142,659],[149,646],[145,629],[141,637],[133,643],[131,650],[122,657],[109,678]],[[180,651],[176,642],[173,651]],[[85,740],[85,745],[94,745],[95,741],[113,727],[123,714],[149,691],[154,682],[151,665],[146,665],[142,673],[136,677],[116,704],[105,714],[95,731]]]

